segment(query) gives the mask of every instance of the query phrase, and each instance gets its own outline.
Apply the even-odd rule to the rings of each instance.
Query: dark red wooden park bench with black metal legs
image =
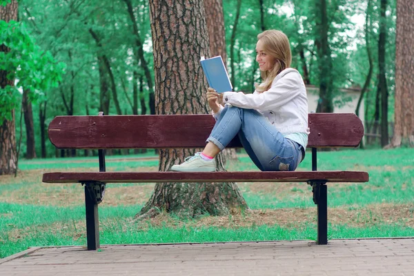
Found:
[[[295,172],[106,172],[108,148],[202,148],[213,129],[211,115],[59,116],[50,122],[48,135],[57,148],[98,149],[99,172],[49,172],[46,183],[81,183],[85,186],[88,249],[99,248],[98,204],[107,183],[139,182],[306,182],[317,204],[317,244],[327,244],[327,182],[366,182],[367,172],[317,171],[317,148],[356,147],[364,127],[354,114],[309,114],[312,171]],[[241,147],[233,139],[228,147]],[[306,157],[310,158],[310,157]]]

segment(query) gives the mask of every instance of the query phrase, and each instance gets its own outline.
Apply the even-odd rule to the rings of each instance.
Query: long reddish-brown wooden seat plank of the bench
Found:
[[[46,183],[77,183],[101,181],[104,183],[141,182],[366,182],[367,172],[314,171],[314,172],[48,172]]]

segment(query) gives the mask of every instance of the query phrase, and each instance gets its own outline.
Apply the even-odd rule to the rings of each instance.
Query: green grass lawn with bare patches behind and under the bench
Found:
[[[318,152],[318,170],[365,170],[370,181],[363,184],[328,184],[328,206],[345,207],[348,210],[363,209],[369,204],[408,204],[413,206],[414,214],[414,149],[400,148],[395,150],[340,150],[335,152]],[[108,170],[130,170],[138,167],[158,166],[155,160],[140,160],[136,156],[107,157]],[[144,157],[155,157],[148,152]],[[21,170],[66,170],[70,168],[98,168],[97,157],[68,158],[46,160],[22,160]],[[306,152],[306,159],[299,170],[311,169],[311,152]],[[257,170],[248,157],[240,157],[231,170]],[[0,195],[8,195],[11,191],[26,193],[29,188],[34,193],[45,191],[39,186],[41,172],[33,172],[36,177],[25,177],[3,183],[0,178]],[[12,183],[10,183],[12,181]],[[108,184],[114,186],[139,186],[144,184]],[[288,193],[273,195],[264,191],[253,193],[250,185],[244,184],[243,196],[252,209],[308,208],[315,207],[311,197],[311,188],[306,184],[286,188]],[[288,184],[275,184],[285,185]],[[80,185],[48,186],[47,193],[66,190],[83,193]],[[27,197],[33,197],[28,195]],[[34,195],[35,196],[35,195]],[[65,200],[62,198],[61,200]],[[122,202],[120,202],[122,204]],[[177,224],[176,228],[148,225],[142,229],[129,222],[140,210],[141,205],[99,206],[101,220],[101,244],[148,244],[174,242],[226,242],[226,241],[261,241],[271,239],[315,239],[316,226],[313,223],[297,224],[293,228],[285,226],[250,226],[243,228],[198,227]],[[28,248],[29,246],[59,246],[86,244],[83,221],[84,206],[57,207],[35,204],[14,204],[0,202],[0,257]],[[414,230],[404,223],[388,224],[386,221],[373,221],[372,217],[362,217],[371,222],[366,227],[354,227],[346,224],[334,224],[328,228],[330,239],[355,237],[408,237],[414,236]],[[357,220],[358,220],[357,219]],[[55,224],[62,227],[55,229]],[[81,225],[81,226],[79,226]]]

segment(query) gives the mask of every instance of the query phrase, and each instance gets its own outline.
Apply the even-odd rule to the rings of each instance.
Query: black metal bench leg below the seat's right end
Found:
[[[319,199],[317,201],[317,244],[328,244],[328,204],[325,184],[319,185]]]

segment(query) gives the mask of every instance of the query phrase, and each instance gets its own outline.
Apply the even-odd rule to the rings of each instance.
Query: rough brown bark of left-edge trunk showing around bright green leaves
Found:
[[[6,6],[0,5],[0,20],[9,22],[17,21],[18,4],[12,0]],[[10,49],[0,44],[0,52],[9,52]],[[7,78],[8,72],[0,70],[0,87],[14,86],[14,79]],[[12,175],[17,170],[17,149],[14,127],[14,110],[12,110],[12,119],[3,119],[0,126],[0,175]]]

